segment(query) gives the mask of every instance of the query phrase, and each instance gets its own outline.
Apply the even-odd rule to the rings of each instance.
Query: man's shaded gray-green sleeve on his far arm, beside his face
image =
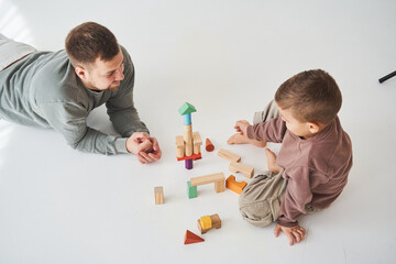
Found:
[[[134,68],[128,52],[124,54],[124,79],[117,94],[107,102],[107,112],[114,129],[123,138],[129,138],[134,132],[150,133],[146,125],[141,121],[133,102]]]

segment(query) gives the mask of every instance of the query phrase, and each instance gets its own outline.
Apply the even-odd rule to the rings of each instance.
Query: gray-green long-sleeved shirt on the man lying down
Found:
[[[0,118],[12,122],[53,128],[67,143],[84,152],[128,153],[127,138],[148,133],[133,103],[134,68],[127,50],[124,79],[116,91],[86,88],[65,51],[35,52],[0,72]],[[87,127],[89,112],[106,103],[110,121],[121,136]]]

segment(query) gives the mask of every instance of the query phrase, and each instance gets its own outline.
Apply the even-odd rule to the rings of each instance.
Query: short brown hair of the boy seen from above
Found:
[[[299,73],[280,85],[275,101],[300,122],[331,122],[342,103],[336,80],[322,69]]]

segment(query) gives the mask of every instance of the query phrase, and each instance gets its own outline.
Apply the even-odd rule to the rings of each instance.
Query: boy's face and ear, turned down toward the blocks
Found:
[[[308,139],[319,132],[319,127],[311,122],[300,122],[292,114],[290,109],[282,109],[277,107],[282,119],[286,122],[286,128],[297,136]]]

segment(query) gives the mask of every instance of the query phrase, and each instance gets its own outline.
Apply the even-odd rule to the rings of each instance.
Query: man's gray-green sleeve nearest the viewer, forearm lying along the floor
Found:
[[[76,102],[45,102],[40,105],[50,125],[59,132],[73,148],[106,155],[128,153],[127,139],[105,134],[87,127],[84,106]]]

